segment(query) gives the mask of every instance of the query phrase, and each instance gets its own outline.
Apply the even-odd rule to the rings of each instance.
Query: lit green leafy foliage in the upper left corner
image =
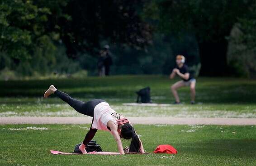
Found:
[[[6,0],[0,3],[0,50],[11,58],[28,59],[36,51],[37,40],[45,33],[47,8],[32,1]]]

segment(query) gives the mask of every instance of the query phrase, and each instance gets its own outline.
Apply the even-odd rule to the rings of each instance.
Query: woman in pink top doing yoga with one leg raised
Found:
[[[82,153],[87,153],[85,151],[86,144],[93,139],[97,130],[109,131],[113,135],[120,154],[124,154],[120,138],[132,139],[129,152],[145,153],[142,142],[128,119],[110,108],[109,103],[106,101],[102,99],[95,99],[84,103],[57,90],[53,85],[51,85],[44,93],[44,97],[46,98],[51,94],[57,95],[77,112],[92,117],[90,130],[85,135],[85,139],[79,147]]]

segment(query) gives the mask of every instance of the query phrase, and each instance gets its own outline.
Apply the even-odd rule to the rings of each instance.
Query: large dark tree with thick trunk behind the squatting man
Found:
[[[238,18],[247,18],[255,0],[154,0],[145,9],[160,31],[194,33],[199,45],[200,74],[228,73],[227,47],[230,31]]]

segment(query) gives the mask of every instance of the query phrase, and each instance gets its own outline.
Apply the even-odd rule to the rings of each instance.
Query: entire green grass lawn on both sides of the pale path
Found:
[[[0,81],[0,117],[83,116],[52,95],[49,85],[88,101],[101,98],[117,112],[133,117],[246,117],[256,118],[256,80],[198,78],[197,104],[190,105],[189,88],[179,90],[181,105],[134,107],[135,91],[150,86],[154,103],[173,103],[167,76],[88,77],[83,80]],[[28,127],[28,128],[27,128]],[[33,129],[47,130],[33,130]],[[71,152],[83,140],[89,125],[2,125],[0,166],[255,166],[256,126],[135,125],[147,152],[158,144],[171,144],[177,155],[61,156],[50,150]],[[112,136],[99,131],[95,139],[105,151],[116,152]],[[128,141],[123,141],[124,146]]]

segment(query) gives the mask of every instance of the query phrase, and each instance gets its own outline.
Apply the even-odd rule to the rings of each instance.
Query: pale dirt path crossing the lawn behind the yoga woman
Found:
[[[256,125],[256,118],[128,117],[133,124]],[[88,124],[90,117],[0,117],[0,124]]]

